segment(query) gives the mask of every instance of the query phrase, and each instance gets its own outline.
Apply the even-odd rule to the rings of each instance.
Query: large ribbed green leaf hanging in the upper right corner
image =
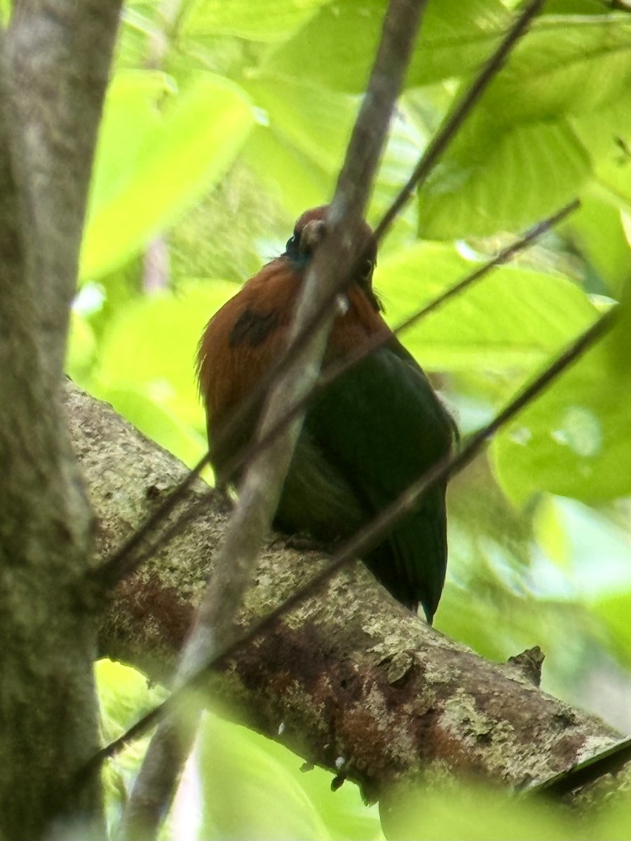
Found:
[[[581,191],[597,160],[571,119],[631,109],[628,15],[546,16],[491,82],[419,198],[423,236],[512,230]],[[619,132],[619,128],[618,128]]]

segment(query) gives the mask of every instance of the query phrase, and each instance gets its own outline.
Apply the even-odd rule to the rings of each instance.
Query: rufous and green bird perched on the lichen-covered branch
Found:
[[[209,320],[197,372],[217,484],[238,487],[236,454],[254,439],[262,399],[235,411],[284,352],[305,272],[326,237],[322,205],[305,211],[285,251],[250,278]],[[335,546],[452,452],[453,416],[382,315],[373,288],[376,244],[365,222],[322,362],[343,362],[367,341],[382,343],[310,401],[273,525]],[[447,568],[446,482],[397,521],[363,563],[402,605],[431,624]]]

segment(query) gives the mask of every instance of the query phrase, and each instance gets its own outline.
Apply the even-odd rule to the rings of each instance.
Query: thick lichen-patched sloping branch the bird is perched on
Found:
[[[184,469],[72,383],[66,395],[105,555]],[[191,489],[188,502],[204,490]],[[103,655],[167,679],[227,516],[218,497],[119,585],[100,623]],[[321,555],[270,542],[241,624],[276,606],[321,563]],[[507,785],[544,779],[615,741],[611,727],[544,694],[531,678],[518,664],[490,664],[428,627],[357,563],[242,648],[211,684],[231,717],[356,780],[374,799],[432,771]]]

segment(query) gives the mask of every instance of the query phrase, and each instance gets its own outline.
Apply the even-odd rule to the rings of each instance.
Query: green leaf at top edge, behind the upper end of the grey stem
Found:
[[[384,0],[327,3],[263,71],[362,93],[384,21]],[[408,85],[459,76],[480,64],[511,15],[499,0],[433,0],[422,20]]]

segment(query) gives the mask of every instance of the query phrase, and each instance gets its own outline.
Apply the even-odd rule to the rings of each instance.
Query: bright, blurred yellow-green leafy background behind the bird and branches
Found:
[[[331,197],[385,5],[125,5],[67,370],[189,465],[204,452],[194,381],[204,323],[282,251],[297,214]],[[517,5],[430,0],[369,220],[406,182]],[[528,255],[402,336],[464,435],[600,310],[628,300],[631,15],[609,6],[546,4],[384,241],[375,284],[395,326],[512,235],[581,198]],[[5,16],[7,8],[0,4]],[[540,645],[545,689],[627,729],[628,327],[627,317],[453,480],[436,619],[491,659]],[[114,664],[99,664],[98,674],[111,738],[152,696]],[[109,765],[113,823],[140,753],[135,746]],[[352,785],[333,795],[329,775],[299,769],[284,748],[209,714],[165,833],[380,837],[376,812]],[[621,815],[578,828],[496,792],[421,791],[392,802],[384,827],[400,838],[628,837]]]

